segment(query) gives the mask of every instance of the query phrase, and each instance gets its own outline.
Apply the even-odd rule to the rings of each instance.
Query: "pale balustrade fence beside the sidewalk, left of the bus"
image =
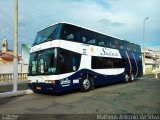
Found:
[[[1,73],[0,82],[9,82],[13,80],[12,73]],[[18,80],[27,80],[27,73],[18,73]]]

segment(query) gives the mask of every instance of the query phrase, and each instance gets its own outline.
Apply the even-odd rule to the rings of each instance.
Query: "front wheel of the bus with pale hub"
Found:
[[[80,87],[82,92],[88,92],[92,89],[92,80],[91,78],[83,77],[80,82]]]

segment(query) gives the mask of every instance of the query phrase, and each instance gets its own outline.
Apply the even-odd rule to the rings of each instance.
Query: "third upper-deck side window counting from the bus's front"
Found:
[[[97,45],[102,46],[102,47],[109,47],[109,37],[102,35],[102,34],[97,34]]]

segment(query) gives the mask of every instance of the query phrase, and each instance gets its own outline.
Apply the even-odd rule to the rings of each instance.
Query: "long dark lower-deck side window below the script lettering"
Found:
[[[118,58],[92,57],[92,69],[124,68],[125,61]]]

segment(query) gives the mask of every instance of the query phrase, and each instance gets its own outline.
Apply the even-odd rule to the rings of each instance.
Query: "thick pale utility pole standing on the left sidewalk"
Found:
[[[18,0],[14,0],[14,60],[13,91],[17,91],[18,80]]]

